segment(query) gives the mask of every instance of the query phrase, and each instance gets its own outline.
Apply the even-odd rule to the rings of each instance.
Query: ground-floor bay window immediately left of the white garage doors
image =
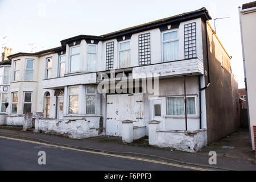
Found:
[[[86,87],[86,114],[96,114],[96,87]]]

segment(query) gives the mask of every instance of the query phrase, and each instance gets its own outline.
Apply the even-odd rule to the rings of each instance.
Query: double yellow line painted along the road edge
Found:
[[[80,152],[87,152],[87,153],[90,153],[90,154],[99,154],[99,155],[113,156],[115,158],[133,159],[133,160],[140,160],[140,161],[156,163],[156,164],[164,164],[164,165],[167,165],[167,166],[187,168],[187,169],[193,169],[193,170],[197,170],[197,171],[210,171],[209,169],[203,169],[203,168],[197,168],[197,167],[191,167],[191,166],[183,166],[183,165],[174,164],[174,163],[160,162],[158,160],[135,158],[135,157],[131,157],[131,156],[123,156],[123,155],[117,155],[117,154],[108,154],[108,153],[105,153],[105,152],[96,152],[96,151],[90,151],[90,150],[81,150],[81,149],[78,149],[78,148],[65,147],[65,146],[57,146],[55,144],[48,144],[48,143],[42,143],[42,142],[35,142],[35,141],[32,141],[32,140],[24,140],[24,139],[3,137],[3,136],[0,136],[0,138],[10,139],[10,140],[17,140],[17,141],[22,141],[22,142],[27,142],[27,143],[40,144],[40,145],[44,145],[44,146],[64,148],[64,149],[75,150],[75,151],[80,151]]]

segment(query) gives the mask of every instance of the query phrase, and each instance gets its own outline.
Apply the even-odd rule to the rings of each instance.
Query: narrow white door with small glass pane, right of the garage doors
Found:
[[[160,121],[160,127],[164,128],[164,114],[162,99],[152,100],[152,119]]]

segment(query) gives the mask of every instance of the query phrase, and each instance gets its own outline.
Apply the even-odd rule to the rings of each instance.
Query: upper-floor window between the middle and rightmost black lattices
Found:
[[[178,31],[163,33],[163,61],[179,60]]]

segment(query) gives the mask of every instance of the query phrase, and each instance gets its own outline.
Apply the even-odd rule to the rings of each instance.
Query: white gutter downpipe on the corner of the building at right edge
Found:
[[[254,8],[255,9],[255,8]],[[243,57],[243,74],[245,77],[245,92],[246,92],[246,100],[247,100],[247,115],[248,115],[248,125],[249,125],[249,134],[250,134],[250,143],[251,143],[251,125],[250,125],[250,114],[249,114],[249,100],[247,93],[247,80],[246,80],[246,70],[245,70],[245,51],[243,49],[243,33],[242,33],[242,21],[241,21],[241,13],[245,12],[241,10],[241,7],[238,7],[239,14],[239,23],[240,23],[240,34],[241,34],[241,43],[242,43],[242,57]]]

